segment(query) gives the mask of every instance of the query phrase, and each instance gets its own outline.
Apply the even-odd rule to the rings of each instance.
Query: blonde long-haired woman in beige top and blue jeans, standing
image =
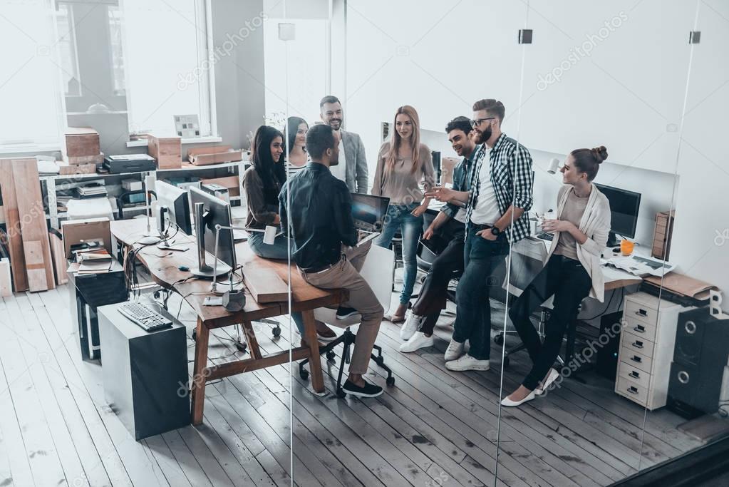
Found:
[[[389,247],[397,230],[402,235],[405,277],[399,306],[389,316],[391,322],[401,323],[405,321],[418,273],[416,250],[423,232],[423,214],[430,201],[430,198],[424,198],[423,189],[431,190],[435,174],[430,149],[420,143],[420,119],[416,109],[409,105],[399,107],[394,125],[391,141],[380,148],[372,194],[390,198],[382,234],[375,240],[375,245]],[[424,188],[421,189],[423,180]]]

